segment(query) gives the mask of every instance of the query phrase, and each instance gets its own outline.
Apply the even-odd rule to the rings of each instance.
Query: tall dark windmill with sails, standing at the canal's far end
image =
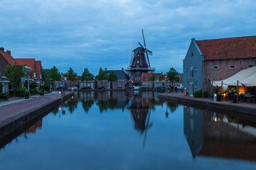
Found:
[[[130,73],[130,79],[135,81],[135,85],[142,84],[142,73],[151,71],[149,62],[149,55],[152,52],[146,48],[146,41],[144,38],[144,31],[142,29],[142,37],[144,46],[139,42],[139,47],[132,50],[132,57],[127,72]]]

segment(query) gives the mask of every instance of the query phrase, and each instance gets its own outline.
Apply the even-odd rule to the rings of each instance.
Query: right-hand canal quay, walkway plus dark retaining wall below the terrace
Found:
[[[160,101],[170,101],[219,113],[232,112],[238,114],[242,113],[248,115],[256,115],[256,103],[233,103],[232,101],[228,100],[214,102],[210,98],[194,98],[192,96],[183,96],[181,93],[159,94],[158,98]]]

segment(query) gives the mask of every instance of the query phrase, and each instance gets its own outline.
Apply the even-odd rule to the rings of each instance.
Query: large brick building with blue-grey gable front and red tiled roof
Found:
[[[256,36],[191,40],[183,60],[184,92],[211,91],[210,81],[227,79],[256,65]]]

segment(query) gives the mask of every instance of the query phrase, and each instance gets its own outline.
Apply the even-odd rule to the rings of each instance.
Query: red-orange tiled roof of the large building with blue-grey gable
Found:
[[[256,36],[196,40],[206,60],[256,57]]]

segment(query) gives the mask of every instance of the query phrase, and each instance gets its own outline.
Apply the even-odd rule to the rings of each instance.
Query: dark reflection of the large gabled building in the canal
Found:
[[[256,160],[256,123],[184,106],[183,129],[193,158]]]

